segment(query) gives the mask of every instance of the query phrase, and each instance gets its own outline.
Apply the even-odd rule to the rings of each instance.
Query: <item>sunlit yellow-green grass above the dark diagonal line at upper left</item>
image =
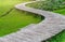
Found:
[[[6,13],[14,5],[29,0],[0,0],[0,15]]]

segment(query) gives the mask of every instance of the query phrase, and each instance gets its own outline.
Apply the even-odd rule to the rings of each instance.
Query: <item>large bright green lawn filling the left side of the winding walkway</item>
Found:
[[[41,20],[40,17],[35,17],[34,13],[14,9],[15,4],[25,1],[29,0],[0,0],[0,16],[13,8],[9,14],[0,17],[0,37],[15,32],[22,27],[29,24],[37,24]]]

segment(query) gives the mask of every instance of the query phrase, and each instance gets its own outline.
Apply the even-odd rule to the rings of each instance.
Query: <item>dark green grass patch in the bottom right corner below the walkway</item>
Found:
[[[65,42],[65,30],[48,40],[49,42]]]

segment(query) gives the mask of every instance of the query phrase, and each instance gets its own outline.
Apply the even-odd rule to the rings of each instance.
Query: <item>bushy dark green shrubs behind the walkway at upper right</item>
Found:
[[[65,0],[46,0],[46,1],[40,1],[39,9],[43,10],[49,10],[49,11],[54,11],[57,9],[63,9],[65,8]]]

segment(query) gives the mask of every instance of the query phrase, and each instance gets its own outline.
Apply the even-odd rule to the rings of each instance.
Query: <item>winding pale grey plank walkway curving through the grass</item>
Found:
[[[0,42],[41,42],[65,30],[65,16],[26,6],[26,4],[32,2],[36,1],[21,3],[15,8],[42,15],[46,18],[37,25],[31,24],[15,33],[0,38]]]

